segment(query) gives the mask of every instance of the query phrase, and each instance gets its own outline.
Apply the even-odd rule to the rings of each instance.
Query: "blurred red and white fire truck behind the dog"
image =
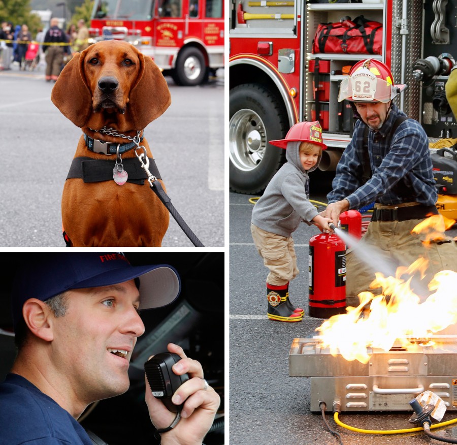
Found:
[[[224,65],[222,0],[95,0],[89,34],[132,43],[178,85]]]

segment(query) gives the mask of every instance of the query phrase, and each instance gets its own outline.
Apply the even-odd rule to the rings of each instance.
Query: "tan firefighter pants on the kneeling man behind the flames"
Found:
[[[426,246],[411,230],[422,219],[406,221],[372,221],[362,240],[347,251],[346,257],[346,305],[358,305],[358,294],[370,291],[380,294],[380,289],[370,289],[375,272],[395,273],[398,266],[409,266],[420,256],[429,260],[425,278],[420,279],[417,272],[411,288],[418,296],[428,296],[428,283],[441,270],[457,272],[457,246],[454,241],[432,242]]]

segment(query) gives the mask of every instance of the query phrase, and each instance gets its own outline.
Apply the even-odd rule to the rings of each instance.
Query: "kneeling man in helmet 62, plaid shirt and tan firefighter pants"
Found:
[[[411,234],[421,220],[438,211],[427,134],[393,102],[405,87],[394,84],[389,68],[372,59],[357,62],[340,85],[338,101],[352,102],[358,120],[322,215],[337,224],[342,212],[374,202],[371,222],[357,248],[374,246],[381,257],[367,264],[348,250],[347,306],[357,306],[357,295],[363,291],[379,293],[370,289],[370,283],[383,262],[398,267],[409,266],[419,257],[428,259],[426,277],[422,281],[413,277],[411,287],[417,293],[427,290],[437,272],[457,271],[457,246],[452,240],[442,234],[441,242],[426,247],[420,236]]]

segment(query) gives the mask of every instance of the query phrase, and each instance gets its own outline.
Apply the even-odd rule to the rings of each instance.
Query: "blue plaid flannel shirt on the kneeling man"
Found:
[[[368,154],[373,176],[366,183],[363,175],[363,137],[365,124],[355,124],[351,142],[338,163],[330,203],[347,199],[350,209],[359,209],[372,202],[384,205],[415,201],[435,205],[438,198],[433,178],[429,140],[419,122],[408,119],[391,135],[398,116],[405,114],[394,104],[382,127],[368,133]],[[395,186],[400,179],[409,187],[409,196],[399,196]]]

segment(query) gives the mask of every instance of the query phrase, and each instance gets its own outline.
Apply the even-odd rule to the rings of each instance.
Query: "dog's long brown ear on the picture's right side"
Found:
[[[171,104],[167,81],[150,57],[139,53],[141,68],[128,105],[135,128],[142,130]]]

